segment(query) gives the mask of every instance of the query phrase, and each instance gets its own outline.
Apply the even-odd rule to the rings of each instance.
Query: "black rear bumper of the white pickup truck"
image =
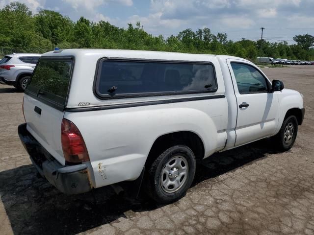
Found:
[[[26,123],[19,125],[18,133],[38,173],[55,188],[66,194],[78,194],[92,189],[86,164],[61,165],[26,130]]]

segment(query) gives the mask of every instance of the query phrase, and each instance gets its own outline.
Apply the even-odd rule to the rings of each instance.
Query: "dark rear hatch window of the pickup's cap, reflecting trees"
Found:
[[[72,58],[40,58],[25,93],[64,110],[72,70]]]

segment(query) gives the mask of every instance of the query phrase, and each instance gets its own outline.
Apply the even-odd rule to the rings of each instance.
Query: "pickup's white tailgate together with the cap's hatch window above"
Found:
[[[65,164],[61,123],[73,60],[41,58],[24,95],[27,130],[60,163]]]

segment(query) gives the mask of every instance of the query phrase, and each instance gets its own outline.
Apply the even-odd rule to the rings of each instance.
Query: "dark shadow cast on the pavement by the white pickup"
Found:
[[[266,140],[267,141],[267,140]],[[215,154],[198,164],[192,187],[209,178],[264,158],[273,150],[258,141]],[[193,190],[190,189],[190,190]],[[111,187],[67,196],[44,179],[32,165],[0,172],[0,195],[14,234],[77,234],[110,223],[125,212],[162,207],[141,193],[138,199],[117,196]]]

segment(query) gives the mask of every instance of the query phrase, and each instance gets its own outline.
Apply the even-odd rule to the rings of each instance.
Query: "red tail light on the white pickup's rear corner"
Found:
[[[62,119],[61,124],[61,144],[66,162],[81,163],[89,161],[82,135],[76,125],[65,118]]]

